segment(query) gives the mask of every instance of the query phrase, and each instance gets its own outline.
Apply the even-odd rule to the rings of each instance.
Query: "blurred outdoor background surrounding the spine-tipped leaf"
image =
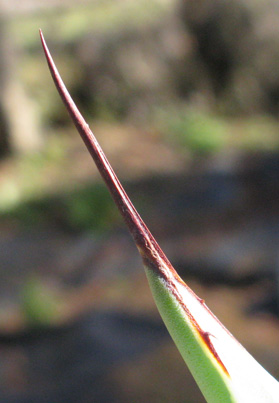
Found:
[[[0,1],[0,401],[204,402],[59,99],[279,378],[277,0]]]

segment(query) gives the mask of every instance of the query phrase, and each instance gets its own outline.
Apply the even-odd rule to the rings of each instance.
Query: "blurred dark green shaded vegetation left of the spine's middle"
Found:
[[[31,197],[19,200],[14,207],[2,209],[0,218],[15,228],[52,226],[66,232],[102,233],[120,218],[106,187],[101,184],[64,191],[62,195]]]

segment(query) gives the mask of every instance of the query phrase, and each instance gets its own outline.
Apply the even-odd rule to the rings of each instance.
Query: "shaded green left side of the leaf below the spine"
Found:
[[[148,268],[145,272],[160,315],[207,402],[236,402],[228,374],[218,368],[220,364],[212,359],[200,334],[165,281]]]

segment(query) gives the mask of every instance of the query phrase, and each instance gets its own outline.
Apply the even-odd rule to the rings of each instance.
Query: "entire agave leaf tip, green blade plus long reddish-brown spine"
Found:
[[[57,90],[134,238],[159,312],[205,399],[278,402],[278,382],[183,282],[144,224],[68,93],[40,34]]]

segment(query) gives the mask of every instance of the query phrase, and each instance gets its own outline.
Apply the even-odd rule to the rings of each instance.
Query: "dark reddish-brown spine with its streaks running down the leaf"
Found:
[[[213,356],[215,357],[216,361],[220,364],[222,369],[226,374],[228,374],[227,369],[225,368],[222,360],[218,356],[214,346],[210,340],[210,335],[207,332],[204,332],[200,326],[197,324],[194,317],[189,312],[188,308],[184,304],[180,294],[178,293],[174,280],[178,281],[179,283],[183,284],[187,288],[187,291],[193,294],[193,296],[203,304],[203,300],[196,296],[196,294],[184,283],[184,281],[179,277],[169,260],[167,259],[166,255],[156,242],[155,238],[148,230],[147,226],[143,222],[142,218],[136,211],[135,207],[133,206],[132,202],[130,201],[128,195],[126,194],[125,190],[123,189],[121,183],[119,182],[115,172],[113,171],[110,163],[108,162],[102,148],[100,147],[99,143],[97,142],[94,134],[90,130],[88,124],[84,120],[83,116],[79,112],[78,108],[76,107],[74,101],[72,100],[67,88],[65,87],[60,74],[53,62],[51,54],[47,48],[46,42],[44,40],[43,34],[40,31],[40,36],[42,40],[43,49],[46,55],[47,63],[53,78],[53,81],[56,85],[56,88],[71,116],[78,132],[80,133],[88,151],[90,152],[92,158],[95,161],[95,164],[103,177],[114,201],[117,205],[122,217],[124,218],[134,240],[139,249],[139,252],[142,256],[144,264],[151,270],[153,270],[157,275],[163,278],[171,293],[179,302],[180,306],[184,309],[187,317],[190,319],[193,327],[198,331],[200,337],[204,341],[205,345],[211,351]],[[206,306],[204,306],[208,309]],[[211,311],[208,309],[208,312],[214,316]],[[215,318],[215,317],[214,317]]]

